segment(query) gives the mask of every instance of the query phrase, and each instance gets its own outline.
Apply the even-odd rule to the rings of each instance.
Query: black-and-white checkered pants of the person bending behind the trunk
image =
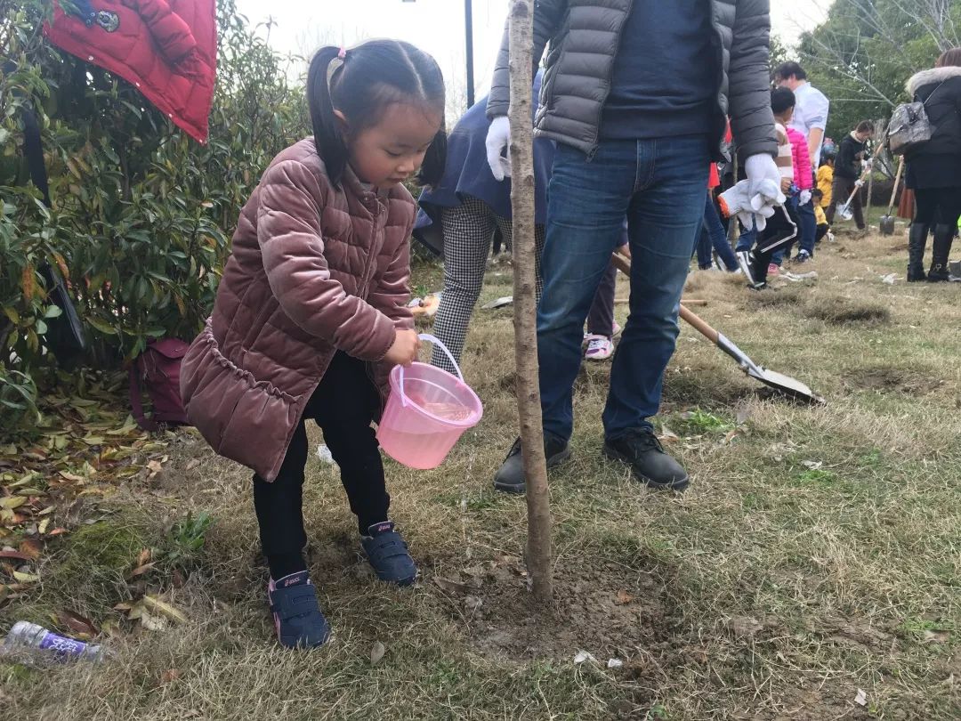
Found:
[[[469,195],[454,208],[445,208],[441,218],[444,225],[444,292],[433,320],[433,335],[451,351],[457,362],[464,348],[467,326],[480,297],[483,274],[487,268],[494,231],[500,230],[505,246],[510,248],[510,221],[498,217],[481,200]],[[544,226],[534,227],[537,244],[537,299],[540,299],[540,258],[544,249]],[[433,349],[431,364],[455,372],[451,361],[439,348]]]

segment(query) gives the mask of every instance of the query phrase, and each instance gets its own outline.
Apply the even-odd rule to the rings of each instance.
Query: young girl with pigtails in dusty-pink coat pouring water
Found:
[[[383,581],[417,574],[390,522],[371,428],[386,376],[417,353],[407,310],[415,205],[401,182],[444,168],[444,81],[404,42],[327,47],[310,62],[313,137],[264,172],[240,214],[206,330],[185,356],[190,422],[222,456],[254,469],[254,507],[281,643],[330,630],[302,549],[304,422],[323,429],[360,542]]]

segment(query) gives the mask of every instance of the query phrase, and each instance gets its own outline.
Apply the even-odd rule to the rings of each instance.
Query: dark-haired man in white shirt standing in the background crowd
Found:
[[[827,110],[830,102],[821,90],[807,82],[807,73],[797,62],[783,62],[775,71],[775,82],[794,92],[795,106],[791,127],[807,139],[811,172],[816,172],[821,162],[821,142],[825,137]],[[801,249],[799,262],[809,261],[814,255],[814,236],[818,223],[814,218],[814,204],[810,191],[802,191],[798,214],[801,216]]]

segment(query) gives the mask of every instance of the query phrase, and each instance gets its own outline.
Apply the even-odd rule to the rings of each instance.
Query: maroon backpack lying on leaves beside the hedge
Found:
[[[134,360],[130,368],[130,405],[137,424],[144,431],[157,431],[160,424],[187,425],[186,411],[180,398],[180,365],[187,345],[177,338],[163,338],[147,343],[147,350]],[[147,391],[154,403],[148,418],[143,412],[140,395]]]

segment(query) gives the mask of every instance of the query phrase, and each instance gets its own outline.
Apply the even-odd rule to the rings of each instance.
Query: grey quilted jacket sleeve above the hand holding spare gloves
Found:
[[[730,127],[742,158],[777,155],[771,112],[771,15],[768,0],[735,5],[728,65]]]

